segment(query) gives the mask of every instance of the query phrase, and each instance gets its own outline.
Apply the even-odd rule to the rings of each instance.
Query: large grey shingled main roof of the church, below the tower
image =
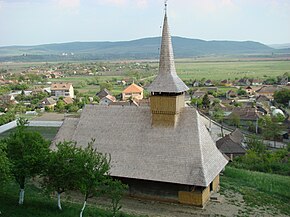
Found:
[[[86,105],[79,119],[65,119],[54,142],[84,147],[91,138],[111,154],[114,177],[208,186],[227,163],[192,108],[176,128],[153,128],[149,107]]]

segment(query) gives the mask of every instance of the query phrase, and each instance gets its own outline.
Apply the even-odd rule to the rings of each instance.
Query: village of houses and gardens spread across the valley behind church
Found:
[[[96,65],[58,66],[50,69],[30,67],[18,75],[2,70],[0,124],[12,121],[20,114],[28,116],[37,116],[44,112],[78,114],[86,104],[150,106],[146,88],[154,76],[148,72],[150,70],[155,72],[156,67],[144,63],[123,63],[114,67],[105,64],[99,64],[97,67]],[[103,74],[106,75],[111,70],[118,73],[126,67],[133,73],[127,73],[123,78],[116,76],[109,81],[101,81]],[[142,78],[142,74],[145,74],[145,78]],[[91,83],[95,89],[91,89],[89,93],[81,93],[83,81],[74,84],[67,82],[70,78],[73,80],[74,76],[86,76],[87,85]],[[277,132],[279,135],[268,139],[289,141],[290,82],[287,73],[276,79],[241,78],[220,81],[190,79],[185,83],[190,87],[185,95],[186,105],[196,107],[201,114],[220,124],[220,127],[228,127],[231,131],[238,128],[246,135],[261,134],[262,120],[268,114],[273,118],[278,117],[283,123],[283,129]],[[114,91],[115,89],[118,89],[118,92]],[[283,93],[282,97],[278,93]],[[222,134],[221,131],[216,138],[222,138],[224,136]],[[228,153],[229,157],[239,155],[237,152],[245,153],[242,147],[244,137],[238,140],[239,151]]]

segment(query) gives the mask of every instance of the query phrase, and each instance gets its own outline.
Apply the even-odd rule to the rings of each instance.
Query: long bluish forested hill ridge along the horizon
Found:
[[[70,42],[36,46],[0,47],[0,61],[156,59],[161,38],[120,42]],[[172,37],[175,57],[209,55],[269,54],[275,51],[253,41],[204,41]]]

